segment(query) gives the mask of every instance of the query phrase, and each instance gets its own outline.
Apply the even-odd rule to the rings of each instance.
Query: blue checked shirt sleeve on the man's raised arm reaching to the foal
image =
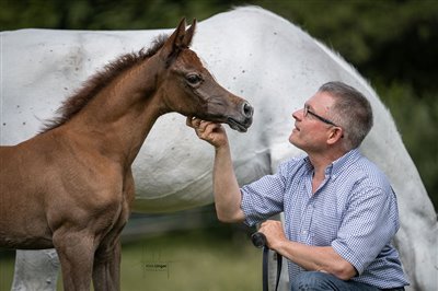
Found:
[[[241,188],[241,209],[247,225],[255,225],[283,211],[287,173],[287,163],[284,163],[277,174],[266,175]]]

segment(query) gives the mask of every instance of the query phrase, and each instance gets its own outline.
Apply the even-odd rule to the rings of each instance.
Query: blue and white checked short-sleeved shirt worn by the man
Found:
[[[356,150],[325,170],[312,194],[313,166],[307,155],[293,158],[241,188],[245,222],[262,222],[285,212],[290,241],[332,246],[358,271],[351,280],[381,289],[408,284],[391,241],[399,230],[396,197],[385,175]],[[302,271],[288,261],[289,278]]]

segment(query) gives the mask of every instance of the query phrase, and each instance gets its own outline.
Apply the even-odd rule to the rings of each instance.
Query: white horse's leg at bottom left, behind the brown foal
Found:
[[[11,291],[55,291],[59,267],[58,255],[54,248],[42,251],[18,249]]]

